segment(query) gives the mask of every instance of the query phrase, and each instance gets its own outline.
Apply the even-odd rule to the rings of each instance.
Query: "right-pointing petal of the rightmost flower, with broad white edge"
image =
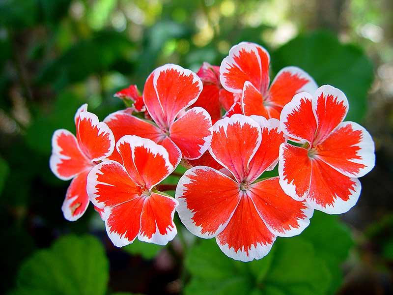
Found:
[[[317,146],[318,158],[348,177],[362,177],[374,167],[374,143],[361,125],[343,122]]]

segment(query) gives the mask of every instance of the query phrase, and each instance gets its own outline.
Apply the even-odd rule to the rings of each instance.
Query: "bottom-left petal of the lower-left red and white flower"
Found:
[[[116,247],[128,245],[138,236],[143,203],[143,197],[136,197],[107,209],[108,217],[105,220],[105,226],[109,238]]]

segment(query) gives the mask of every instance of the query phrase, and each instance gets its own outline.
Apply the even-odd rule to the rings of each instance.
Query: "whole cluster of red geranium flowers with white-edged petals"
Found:
[[[236,260],[269,253],[277,236],[299,235],[313,210],[340,214],[360,195],[358,177],[374,166],[374,143],[357,123],[343,121],[340,90],[285,67],[269,86],[268,52],[242,42],[221,66],[196,73],[174,64],[155,69],[143,93],[116,93],[128,108],[102,122],[83,105],[76,136],[56,130],[50,167],[72,179],[62,206],[77,220],[88,203],[121,247],[165,245],[177,211],[194,235],[215,237]],[[175,197],[160,183],[178,165]],[[279,176],[263,177],[278,165]],[[174,189],[174,188],[172,188]]]

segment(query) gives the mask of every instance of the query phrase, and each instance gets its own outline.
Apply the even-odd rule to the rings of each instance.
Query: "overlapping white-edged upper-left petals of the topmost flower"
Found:
[[[220,66],[221,84],[230,92],[241,93],[244,83],[250,81],[260,92],[265,91],[269,59],[266,50],[257,44],[241,42],[233,46]]]

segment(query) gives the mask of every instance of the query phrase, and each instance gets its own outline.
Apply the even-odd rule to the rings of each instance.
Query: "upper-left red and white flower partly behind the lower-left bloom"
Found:
[[[175,64],[166,64],[149,75],[143,89],[143,102],[156,124],[126,111],[115,112],[104,121],[116,140],[131,134],[167,148],[170,163],[176,167],[181,156],[197,159],[209,148],[212,137],[210,115],[200,107],[185,111],[197,101],[201,91],[202,82],[195,73]],[[111,159],[121,161],[116,151]]]

